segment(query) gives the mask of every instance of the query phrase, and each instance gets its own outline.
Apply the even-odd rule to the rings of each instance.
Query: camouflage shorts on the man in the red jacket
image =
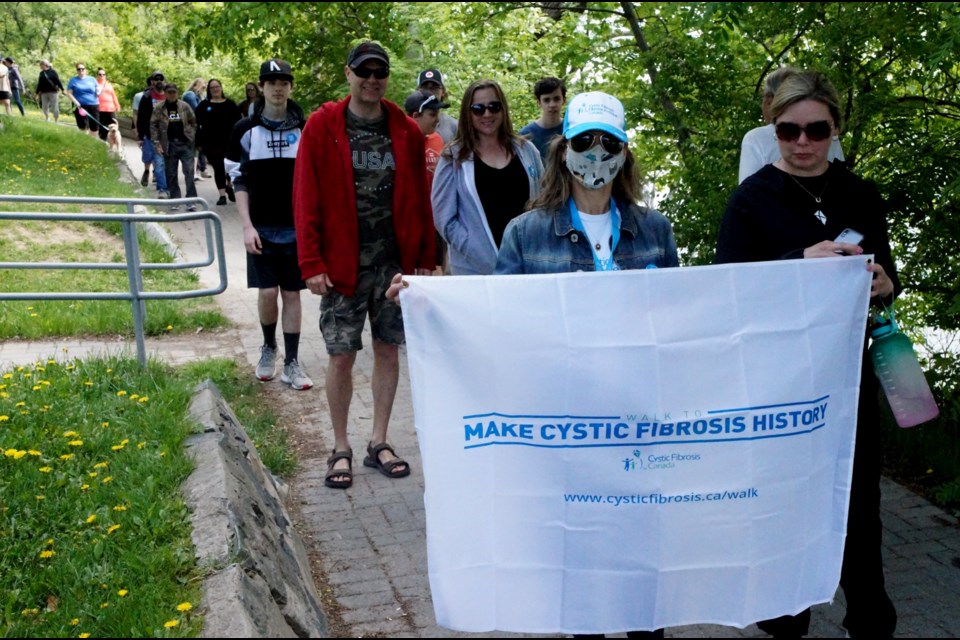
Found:
[[[360,351],[363,325],[370,316],[370,333],[374,340],[386,344],[403,344],[403,316],[400,305],[387,300],[387,287],[400,267],[361,267],[357,273],[357,290],[353,296],[333,291],[320,301],[320,332],[327,343],[327,353],[341,355]]]

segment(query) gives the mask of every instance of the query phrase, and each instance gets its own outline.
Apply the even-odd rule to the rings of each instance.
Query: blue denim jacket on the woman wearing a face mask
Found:
[[[673,227],[659,211],[617,203],[620,242],[613,259],[620,269],[676,267]],[[590,241],[573,228],[570,210],[534,209],[514,218],[503,233],[494,273],[594,271]]]

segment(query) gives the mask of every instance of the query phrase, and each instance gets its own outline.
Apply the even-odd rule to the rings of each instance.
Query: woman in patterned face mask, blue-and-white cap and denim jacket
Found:
[[[540,196],[507,225],[495,273],[676,267],[670,222],[637,204],[623,105],[599,91],[575,96],[551,143]]]

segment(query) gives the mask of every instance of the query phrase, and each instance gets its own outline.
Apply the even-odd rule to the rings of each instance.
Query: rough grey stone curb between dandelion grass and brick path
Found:
[[[285,487],[209,380],[197,386],[190,417],[204,432],[187,440],[195,469],[181,491],[198,563],[214,570],[203,584],[201,636],[328,637],[306,549],[281,499]]]

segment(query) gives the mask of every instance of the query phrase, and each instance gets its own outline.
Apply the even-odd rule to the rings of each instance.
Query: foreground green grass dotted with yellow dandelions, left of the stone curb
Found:
[[[3,372],[0,634],[196,634],[178,611],[200,600],[179,495],[189,393],[133,360]]]

